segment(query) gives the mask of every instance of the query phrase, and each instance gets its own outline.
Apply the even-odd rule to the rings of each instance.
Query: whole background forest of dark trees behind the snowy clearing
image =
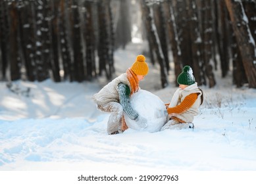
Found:
[[[187,64],[199,85],[221,70],[256,87],[255,0],[3,0],[0,80],[111,80],[115,49],[138,33],[162,87]]]

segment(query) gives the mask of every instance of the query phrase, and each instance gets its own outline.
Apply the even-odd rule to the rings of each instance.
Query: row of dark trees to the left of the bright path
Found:
[[[0,80],[111,79],[125,1],[0,1]]]

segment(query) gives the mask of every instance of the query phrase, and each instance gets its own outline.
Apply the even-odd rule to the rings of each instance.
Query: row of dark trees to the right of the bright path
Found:
[[[238,87],[256,87],[255,0],[141,0],[141,12],[163,87],[168,84],[170,50],[176,77],[190,65],[199,85],[213,87],[219,60],[222,77],[232,67]]]

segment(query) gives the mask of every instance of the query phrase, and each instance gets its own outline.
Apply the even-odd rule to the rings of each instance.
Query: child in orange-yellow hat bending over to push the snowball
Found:
[[[111,112],[107,123],[107,133],[122,133],[128,127],[125,124],[123,112],[130,119],[138,122],[140,127],[147,126],[147,120],[134,110],[130,103],[130,96],[140,89],[140,81],[147,75],[149,67],[143,55],[138,55],[131,68],[113,81],[105,85],[99,93],[93,95],[97,108],[104,112]]]

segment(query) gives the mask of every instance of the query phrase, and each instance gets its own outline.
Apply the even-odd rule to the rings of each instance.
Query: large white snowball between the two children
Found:
[[[167,114],[165,112],[165,104],[157,95],[140,89],[137,93],[131,96],[130,102],[132,108],[138,112],[140,116],[147,120],[147,127],[141,128],[137,125],[137,122],[131,120],[126,113],[124,113],[124,119],[129,128],[155,132],[159,131],[166,122]]]

